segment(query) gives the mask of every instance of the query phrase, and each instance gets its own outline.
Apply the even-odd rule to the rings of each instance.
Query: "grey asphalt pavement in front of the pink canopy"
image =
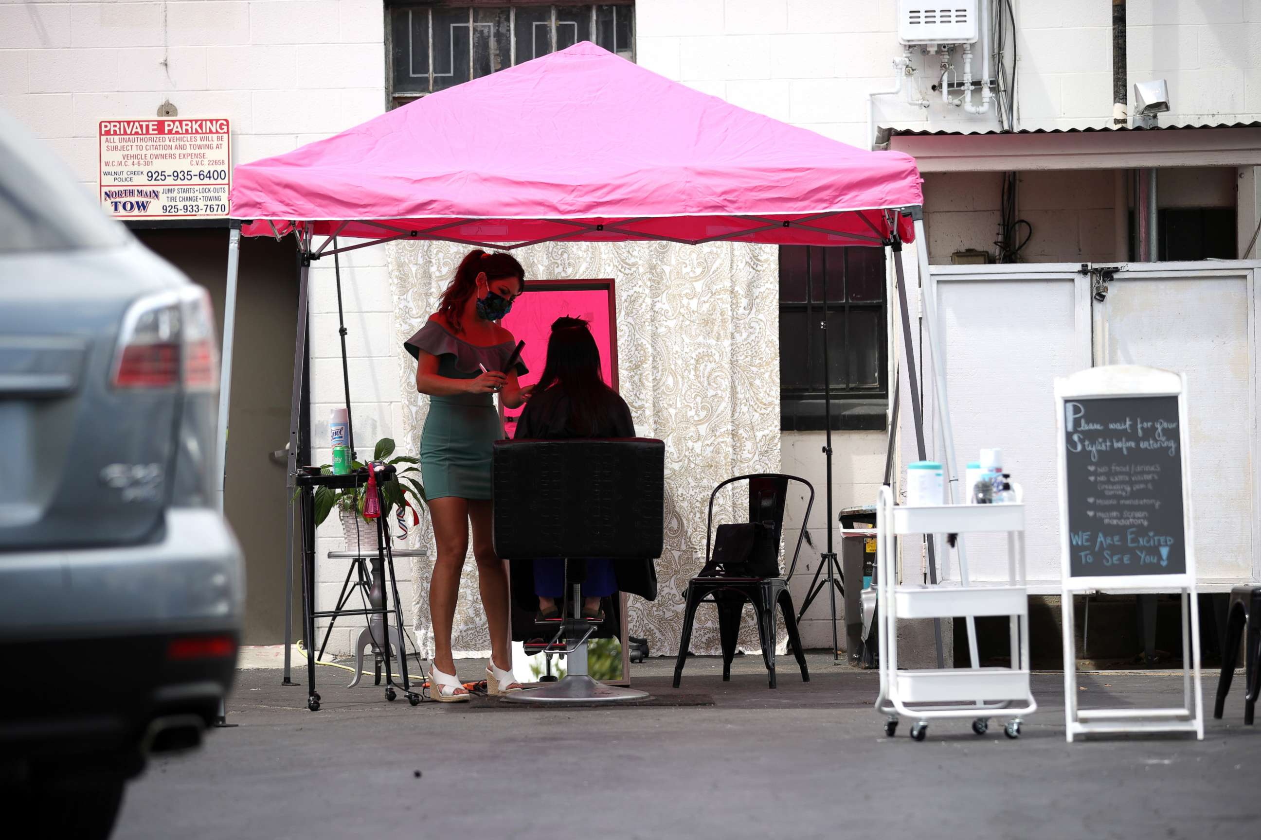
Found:
[[[266,837],[1160,837],[1257,836],[1261,725],[1243,725],[1242,679],[1204,741],[1111,737],[1066,743],[1063,676],[1038,674],[1039,710],[1011,741],[995,724],[910,722],[888,738],[874,671],[810,656],[802,683],[781,659],[632,666],[654,704],[523,709],[388,703],[372,679],[319,669],[323,707],[279,670],[238,673],[235,728],[161,758],[127,792],[117,840]],[[460,660],[465,679],[484,662]],[[295,669],[295,679],[304,671]],[[1082,707],[1182,703],[1182,678],[1078,679]]]

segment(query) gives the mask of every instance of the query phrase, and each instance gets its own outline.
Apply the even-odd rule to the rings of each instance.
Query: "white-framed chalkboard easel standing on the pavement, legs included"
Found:
[[[1061,610],[1064,633],[1064,737],[1072,742],[1077,735],[1091,734],[1184,732],[1194,733],[1203,741],[1199,598],[1195,591],[1195,530],[1189,491],[1190,447],[1188,436],[1183,433],[1183,429],[1189,428],[1187,379],[1169,370],[1136,365],[1091,368],[1055,380],[1055,408],[1062,548]],[[1163,436],[1171,446],[1163,450],[1142,448],[1141,441],[1151,440],[1151,424],[1156,421],[1163,422]],[[1135,428],[1137,426],[1142,428]],[[1140,445],[1116,446],[1122,438]],[[1154,456],[1153,452],[1159,455]],[[1132,477],[1135,463],[1145,463],[1149,471],[1146,475],[1154,477],[1136,481]],[[1153,466],[1159,468],[1153,471]],[[1100,479],[1100,475],[1108,479]],[[1120,475],[1122,480],[1111,481],[1113,475]],[[1105,484],[1108,487],[1101,492],[1098,489]],[[1110,520],[1108,516],[1113,515],[1110,514],[1110,500],[1115,497],[1126,499],[1127,516],[1146,524],[1132,525],[1129,519],[1120,520],[1120,524],[1116,524],[1119,520]],[[1170,510],[1171,506],[1180,510]],[[1153,555],[1154,549],[1145,544],[1134,548],[1135,543],[1129,539],[1131,528],[1140,535],[1154,533],[1158,538],[1155,544],[1165,545],[1168,553]],[[1073,596],[1095,592],[1177,592],[1180,596],[1182,707],[1078,708]]]

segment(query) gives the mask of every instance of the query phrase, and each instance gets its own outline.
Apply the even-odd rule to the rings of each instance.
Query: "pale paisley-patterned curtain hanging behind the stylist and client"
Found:
[[[429,400],[416,393],[416,364],[402,343],[434,311],[468,248],[444,242],[401,242],[387,248],[404,406],[401,434],[406,448],[417,452]],[[545,243],[513,253],[527,280],[615,280],[622,397],[637,432],[666,442],[660,594],[651,603],[629,598],[629,631],[647,637],[653,654],[676,654],[682,592],[704,562],[710,492],[734,475],[779,470],[777,248],[744,243]],[[716,523],[747,519],[747,494],[743,499],[730,494],[720,501]],[[414,529],[411,540],[427,545],[433,557],[427,519]],[[412,565],[414,622],[424,656],[433,652],[431,568],[426,559]],[[489,635],[477,592],[477,564],[470,555],[455,612],[453,645],[458,656],[488,655]],[[759,650],[752,621],[744,622],[740,647]],[[691,649],[720,652],[715,610],[697,612]]]

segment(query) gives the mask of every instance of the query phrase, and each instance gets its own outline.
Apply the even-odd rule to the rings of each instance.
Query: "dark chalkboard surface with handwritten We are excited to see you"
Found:
[[[1069,577],[1184,574],[1178,397],[1063,400]]]

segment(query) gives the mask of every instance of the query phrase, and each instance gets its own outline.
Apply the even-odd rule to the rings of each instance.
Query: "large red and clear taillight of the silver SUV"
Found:
[[[132,304],[122,319],[111,382],[116,388],[218,388],[219,354],[206,290],[193,286]]]

